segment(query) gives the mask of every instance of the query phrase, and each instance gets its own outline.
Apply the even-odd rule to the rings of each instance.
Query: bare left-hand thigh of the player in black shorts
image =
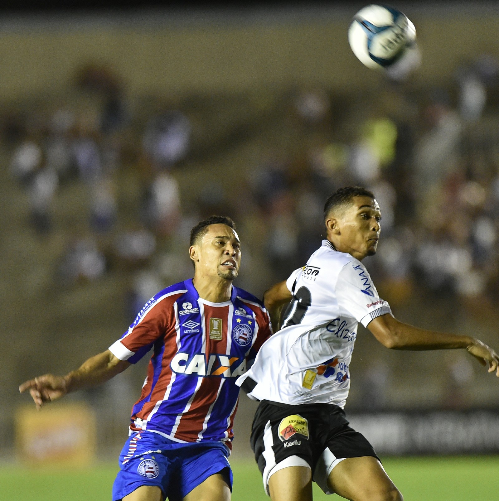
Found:
[[[312,470],[306,466],[288,466],[269,478],[272,501],[312,501]]]

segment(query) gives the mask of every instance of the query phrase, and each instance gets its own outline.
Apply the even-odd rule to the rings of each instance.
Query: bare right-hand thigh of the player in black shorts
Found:
[[[372,456],[348,457],[328,477],[328,487],[351,501],[402,501],[402,494]]]

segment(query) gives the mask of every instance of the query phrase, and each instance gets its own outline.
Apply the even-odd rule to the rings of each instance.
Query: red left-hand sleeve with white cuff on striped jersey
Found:
[[[137,363],[169,329],[173,316],[171,302],[152,298],[137,315],[137,318],[121,339],[109,347],[120,360]]]

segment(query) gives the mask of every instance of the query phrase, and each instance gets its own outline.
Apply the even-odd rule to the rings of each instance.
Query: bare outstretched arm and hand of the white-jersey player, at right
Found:
[[[391,314],[375,318],[367,328],[382,345],[393,350],[452,350],[463,348],[482,365],[488,363],[488,372],[495,371],[497,377],[499,377],[499,355],[478,339],[419,329],[399,322]]]

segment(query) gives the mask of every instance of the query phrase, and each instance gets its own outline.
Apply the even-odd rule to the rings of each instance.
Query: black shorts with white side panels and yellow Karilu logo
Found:
[[[262,400],[253,420],[251,446],[267,493],[270,476],[281,467],[309,466],[314,480],[330,493],[327,477],[341,460],[379,459],[364,435],[349,426],[345,411],[332,404],[286,405]]]

